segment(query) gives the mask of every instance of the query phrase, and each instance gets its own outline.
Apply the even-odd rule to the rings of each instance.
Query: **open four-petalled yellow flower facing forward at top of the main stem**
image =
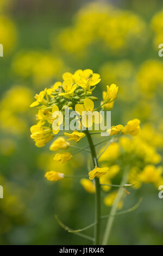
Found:
[[[94,103],[91,99],[84,99],[84,104],[76,104],[75,111],[82,116],[82,125],[91,127],[92,123],[99,124],[102,122],[102,115],[94,111]]]

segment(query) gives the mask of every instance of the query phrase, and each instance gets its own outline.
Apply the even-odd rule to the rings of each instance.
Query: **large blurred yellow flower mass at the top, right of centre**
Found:
[[[74,25],[61,31],[58,41],[65,51],[78,56],[98,40],[104,48],[110,48],[116,53],[130,47],[130,40],[143,41],[145,27],[145,22],[129,11],[115,9],[107,4],[92,3],[79,10]]]

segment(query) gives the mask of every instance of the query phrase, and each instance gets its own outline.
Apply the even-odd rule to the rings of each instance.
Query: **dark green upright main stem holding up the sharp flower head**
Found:
[[[91,137],[88,130],[86,130],[85,133],[86,133],[89,145],[90,145],[93,166],[98,167],[96,149],[95,149],[95,145],[93,144],[92,137]],[[95,235],[94,244],[99,245],[100,220],[101,220],[101,203],[100,203],[101,187],[99,185],[99,179],[98,178],[95,178],[95,185],[96,185],[96,192],[95,192],[95,222],[96,222],[96,225],[95,225],[95,230],[94,230],[94,235]]]

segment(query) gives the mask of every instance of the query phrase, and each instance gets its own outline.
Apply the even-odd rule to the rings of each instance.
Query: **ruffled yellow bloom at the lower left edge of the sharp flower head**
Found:
[[[34,139],[35,145],[39,148],[45,146],[49,141],[52,141],[54,137],[51,128],[46,126],[41,127],[41,123],[30,127],[30,131],[32,133],[30,137]]]

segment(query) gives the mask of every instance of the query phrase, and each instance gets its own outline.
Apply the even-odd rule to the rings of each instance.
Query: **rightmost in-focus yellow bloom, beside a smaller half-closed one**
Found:
[[[121,131],[124,135],[130,134],[132,136],[136,136],[140,132],[140,120],[133,119],[127,122],[127,125]]]

